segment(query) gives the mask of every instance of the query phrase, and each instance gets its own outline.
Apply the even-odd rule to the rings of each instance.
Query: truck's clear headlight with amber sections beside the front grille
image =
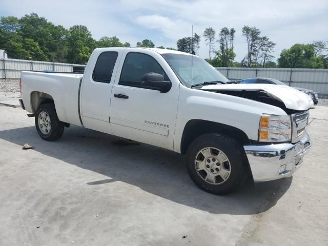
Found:
[[[292,139],[291,116],[262,115],[258,139],[262,142],[290,141]]]

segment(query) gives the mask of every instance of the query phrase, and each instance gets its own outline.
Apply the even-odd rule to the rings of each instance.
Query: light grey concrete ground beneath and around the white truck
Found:
[[[328,107],[292,178],[227,196],[176,153],[79,127],[47,142],[26,113],[0,106],[0,245],[328,245]]]

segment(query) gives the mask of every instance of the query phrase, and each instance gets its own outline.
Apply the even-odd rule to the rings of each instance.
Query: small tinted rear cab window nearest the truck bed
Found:
[[[92,78],[94,81],[110,83],[114,66],[116,63],[117,52],[103,52],[98,56],[94,67]]]

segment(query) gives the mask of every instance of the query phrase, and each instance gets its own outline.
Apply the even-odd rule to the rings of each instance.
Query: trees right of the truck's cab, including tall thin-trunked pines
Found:
[[[244,26],[241,32],[247,50],[243,59],[238,62],[235,61],[234,52],[236,30],[223,27],[216,37],[214,28],[206,28],[203,37],[209,48],[209,59],[206,59],[208,63],[214,67],[328,68],[328,47],[322,41],[306,45],[295,44],[290,49],[282,50],[277,64],[273,61],[276,43],[267,36],[261,36],[261,31],[256,27]],[[194,33],[193,37],[178,39],[177,49],[198,55],[199,44],[200,36]],[[215,49],[215,44],[218,44],[218,49]]]

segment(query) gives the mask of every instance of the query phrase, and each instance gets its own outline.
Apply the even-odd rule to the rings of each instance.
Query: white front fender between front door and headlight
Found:
[[[232,126],[249,139],[258,140],[262,114],[286,115],[282,109],[258,101],[180,86],[174,151],[180,153],[183,129],[189,120],[202,119]]]

